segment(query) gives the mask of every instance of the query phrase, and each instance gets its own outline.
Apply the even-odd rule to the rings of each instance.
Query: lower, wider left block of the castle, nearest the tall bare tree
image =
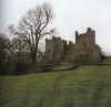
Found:
[[[65,57],[67,41],[61,38],[52,36],[46,40],[44,60],[47,62],[60,63]]]

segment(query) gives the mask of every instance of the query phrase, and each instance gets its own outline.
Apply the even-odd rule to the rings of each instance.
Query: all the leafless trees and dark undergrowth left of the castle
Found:
[[[0,74],[26,72],[43,62],[40,41],[54,33],[52,7],[37,6],[20,19],[17,25],[9,25],[9,35],[0,34]]]

